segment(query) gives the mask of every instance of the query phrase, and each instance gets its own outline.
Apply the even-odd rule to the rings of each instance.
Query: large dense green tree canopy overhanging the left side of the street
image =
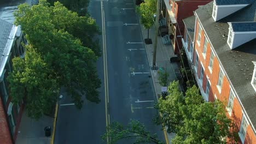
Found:
[[[78,16],[59,2],[51,7],[45,0],[32,7],[21,4],[14,15],[15,24],[21,25],[30,44],[25,61],[20,58],[13,60],[14,71],[10,74],[9,81],[14,101],[26,97],[31,104],[27,103],[27,108],[30,109],[28,113],[31,112],[32,117],[40,117],[49,109],[47,106],[56,102],[56,95],[60,87],[64,86],[78,108],[83,104],[82,95],[99,103],[96,89],[101,82],[96,73],[95,62],[96,53],[100,51],[93,49],[95,47],[84,46],[72,35],[79,28],[83,29],[79,26],[84,22],[84,25],[89,26],[88,31],[91,31],[84,35],[88,37],[85,38],[88,40],[86,45],[93,46],[94,41],[89,37],[95,34],[90,29],[96,28],[95,21],[90,17]],[[25,93],[15,94],[16,92]]]

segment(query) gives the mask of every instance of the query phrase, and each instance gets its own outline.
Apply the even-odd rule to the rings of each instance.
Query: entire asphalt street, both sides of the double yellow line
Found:
[[[157,133],[165,141],[161,127],[152,118],[158,115],[147,53],[141,27],[132,0],[103,0],[104,22],[106,26],[106,49],[108,70],[108,112],[110,122],[124,125],[131,119],[142,122],[145,127]],[[92,0],[89,12],[102,28],[101,2]],[[101,46],[102,37],[99,36]],[[60,100],[55,143],[104,143],[101,135],[106,130],[103,58],[97,62],[97,70],[102,80],[101,103],[85,100],[82,110],[77,110],[72,100],[63,91]],[[131,144],[133,140],[120,143]]]

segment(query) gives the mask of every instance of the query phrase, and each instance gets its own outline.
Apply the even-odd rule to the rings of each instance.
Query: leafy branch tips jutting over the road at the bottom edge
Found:
[[[120,123],[114,122],[107,127],[107,132],[102,135],[102,140],[110,137],[110,143],[117,143],[121,139],[133,139],[135,143],[156,143],[164,144],[158,139],[156,134],[150,134],[144,124],[138,121],[131,121],[126,127]]]

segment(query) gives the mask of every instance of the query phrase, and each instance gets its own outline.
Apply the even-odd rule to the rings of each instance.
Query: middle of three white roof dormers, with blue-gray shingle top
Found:
[[[256,38],[256,22],[228,22],[229,35],[227,43],[230,49]]]

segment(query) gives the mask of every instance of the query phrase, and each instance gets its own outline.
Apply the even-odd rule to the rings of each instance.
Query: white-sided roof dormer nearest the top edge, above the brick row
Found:
[[[242,8],[245,8],[252,2],[254,2],[254,0],[214,0],[212,17],[214,21],[218,21]]]

